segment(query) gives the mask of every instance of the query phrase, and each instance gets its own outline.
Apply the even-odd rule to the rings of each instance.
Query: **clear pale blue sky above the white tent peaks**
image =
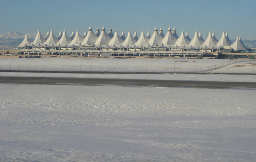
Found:
[[[214,31],[217,39],[223,30],[230,39],[256,38],[256,0],[0,0],[0,34],[17,31],[42,34],[53,30],[58,35],[66,30],[68,36],[78,30],[81,35],[104,25],[119,35],[122,31],[132,35],[137,30],[153,34],[154,27],[175,26],[177,35],[188,31],[192,39],[201,31],[206,39]]]

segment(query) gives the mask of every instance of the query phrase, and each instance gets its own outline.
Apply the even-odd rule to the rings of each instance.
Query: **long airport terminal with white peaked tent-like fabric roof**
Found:
[[[192,38],[192,37],[191,37]],[[164,35],[154,28],[152,35],[146,35],[142,31],[138,37],[137,32],[132,36],[118,31],[113,33],[112,28],[108,31],[105,27],[100,32],[97,28],[94,33],[92,27],[81,36],[79,31],[72,32],[68,37],[66,31],[60,31],[56,37],[53,31],[48,31],[43,37],[38,31],[34,41],[27,36],[18,47],[18,55],[33,55],[37,57],[175,57],[175,58],[249,58],[254,59],[256,49],[246,49],[240,37],[231,42],[227,32],[223,32],[218,40],[215,33],[209,32],[206,39],[201,32],[195,32],[191,39],[188,32],[182,31],[180,37],[175,28],[169,27]]]

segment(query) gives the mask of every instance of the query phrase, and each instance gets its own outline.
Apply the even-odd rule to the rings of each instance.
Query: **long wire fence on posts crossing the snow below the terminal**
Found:
[[[89,64],[5,64],[1,63],[2,71],[67,71],[67,72],[148,72],[148,73],[200,73],[223,68],[225,66],[255,60],[227,60],[219,64],[208,66],[186,63],[177,66],[95,66]]]

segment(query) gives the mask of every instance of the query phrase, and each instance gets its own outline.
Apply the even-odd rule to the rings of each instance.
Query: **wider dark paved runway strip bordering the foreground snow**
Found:
[[[0,83],[17,84],[84,84],[84,85],[143,85],[163,87],[200,87],[200,88],[256,88],[256,82],[211,82],[184,80],[139,80],[139,79],[81,79],[48,77],[0,77]]]

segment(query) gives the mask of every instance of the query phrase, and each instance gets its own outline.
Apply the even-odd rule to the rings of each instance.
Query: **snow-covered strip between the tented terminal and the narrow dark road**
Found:
[[[242,62],[243,61],[243,62]],[[244,63],[246,61],[246,63]],[[246,64],[247,73],[256,74],[255,60],[218,59],[111,59],[111,58],[7,58],[1,70],[96,71],[96,72],[211,72],[231,64]],[[251,65],[252,64],[252,65]],[[247,66],[250,65],[250,66]],[[218,71],[216,71],[218,72]],[[229,73],[229,70],[226,72]],[[233,72],[238,73],[233,70]],[[243,72],[243,71],[239,71]]]

